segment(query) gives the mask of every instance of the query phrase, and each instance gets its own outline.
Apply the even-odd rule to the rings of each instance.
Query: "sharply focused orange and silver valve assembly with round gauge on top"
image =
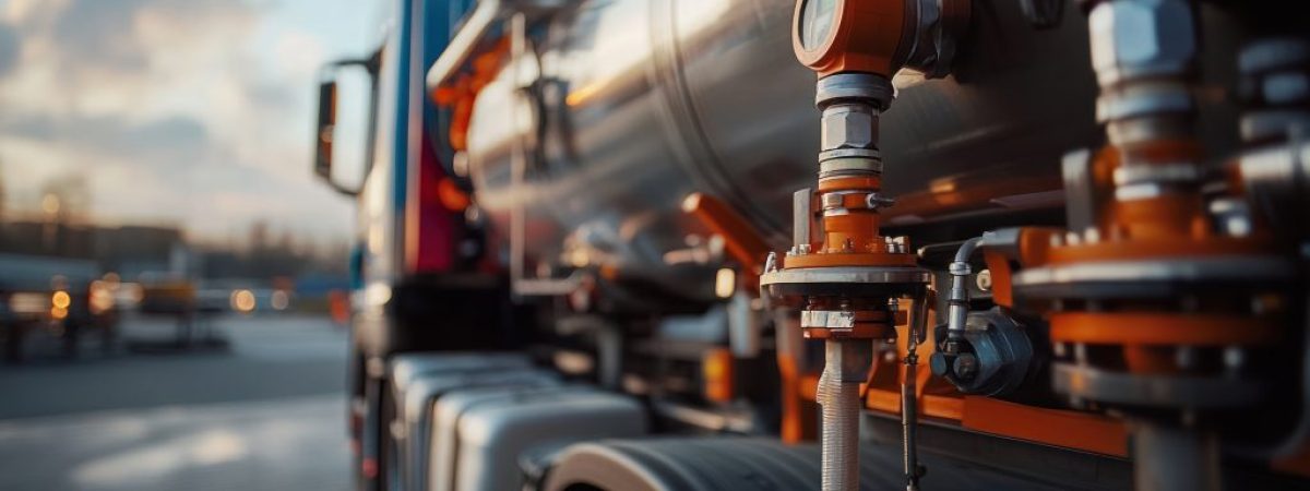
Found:
[[[799,0],[793,51],[817,76],[821,111],[817,186],[796,191],[793,247],[769,254],[761,293],[803,309],[807,338],[824,339],[825,367],[816,389],[823,406],[823,490],[859,488],[859,384],[872,364],[872,342],[896,334],[891,319],[900,299],[916,310],[909,346],[925,338],[931,274],[917,266],[905,238],[879,233],[883,160],[878,119],[892,102],[891,77],[903,67],[943,76],[968,0]],[[821,227],[815,227],[815,220]],[[816,233],[816,230],[823,230]],[[916,350],[907,373],[913,380]],[[903,389],[907,488],[920,469],[912,443],[916,398]]]

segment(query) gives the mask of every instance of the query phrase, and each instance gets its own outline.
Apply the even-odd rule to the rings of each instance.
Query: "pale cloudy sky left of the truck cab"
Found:
[[[345,240],[352,200],[310,172],[314,90],[380,39],[373,4],[0,0],[4,213],[72,186],[94,223]]]

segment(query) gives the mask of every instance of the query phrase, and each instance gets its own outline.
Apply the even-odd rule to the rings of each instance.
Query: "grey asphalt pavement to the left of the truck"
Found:
[[[0,368],[0,490],[347,490],[346,331],[229,316],[221,343],[124,318],[107,354]],[[56,352],[58,350],[48,350]]]

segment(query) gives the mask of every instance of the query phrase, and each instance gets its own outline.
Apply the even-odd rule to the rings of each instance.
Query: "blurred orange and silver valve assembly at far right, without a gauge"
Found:
[[[1221,215],[1225,199],[1264,196],[1208,191],[1196,3],[1085,4],[1108,147],[1065,158],[1069,230],[1010,278],[1007,300],[1051,321],[1057,393],[1131,422],[1138,488],[1218,488],[1214,423],[1273,401],[1276,373],[1250,360],[1289,338],[1298,266],[1263,220]],[[1243,131],[1264,127],[1281,128],[1243,118]]]

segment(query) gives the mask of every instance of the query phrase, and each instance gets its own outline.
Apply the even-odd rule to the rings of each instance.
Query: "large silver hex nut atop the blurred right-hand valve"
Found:
[[[1112,0],[1089,16],[1091,64],[1102,85],[1124,79],[1182,75],[1196,55],[1187,0]]]

